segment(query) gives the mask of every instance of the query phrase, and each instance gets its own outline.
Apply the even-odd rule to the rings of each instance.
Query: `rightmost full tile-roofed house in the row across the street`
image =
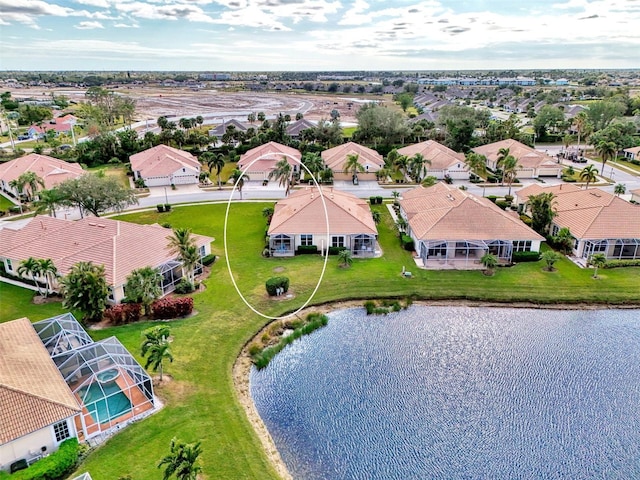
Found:
[[[472,150],[483,155],[486,158],[487,167],[495,170],[498,166],[500,150],[503,148],[508,148],[509,154],[518,160],[518,165],[520,166],[516,172],[518,178],[560,178],[562,176],[563,166],[553,157],[528,147],[517,140],[501,140],[473,148]]]

